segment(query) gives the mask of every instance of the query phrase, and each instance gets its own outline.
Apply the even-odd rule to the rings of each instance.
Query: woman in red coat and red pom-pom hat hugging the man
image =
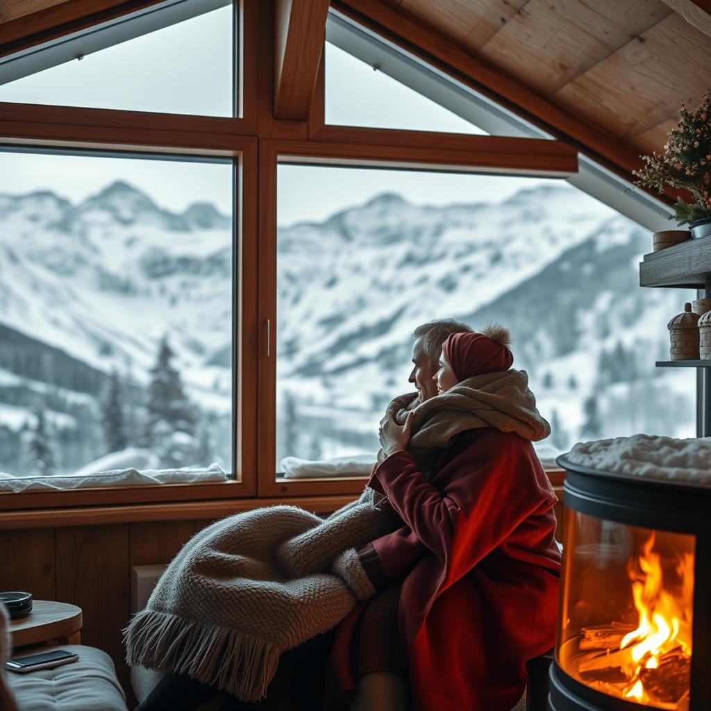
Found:
[[[556,498],[531,444],[550,428],[512,363],[505,329],[449,336],[438,397],[381,422],[368,486],[402,525],[358,550],[381,592],[336,634],[354,710],[406,708],[405,668],[416,710],[509,709],[554,642]]]

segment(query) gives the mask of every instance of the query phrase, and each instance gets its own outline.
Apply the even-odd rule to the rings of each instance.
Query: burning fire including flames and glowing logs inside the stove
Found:
[[[628,565],[636,629],[620,622],[583,628],[577,668],[604,693],[682,711],[688,707],[694,557],[654,552],[655,540],[651,533]]]

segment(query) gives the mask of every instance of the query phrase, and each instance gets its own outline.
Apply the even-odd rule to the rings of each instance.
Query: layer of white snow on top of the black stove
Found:
[[[608,474],[711,488],[711,437],[674,439],[634,434],[578,442],[563,459]]]

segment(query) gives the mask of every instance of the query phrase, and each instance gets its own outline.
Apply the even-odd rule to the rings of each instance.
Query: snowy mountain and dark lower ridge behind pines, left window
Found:
[[[79,204],[1,195],[0,470],[20,466],[38,407],[60,471],[106,454],[99,400],[114,370],[137,437],[164,336],[229,461],[232,271],[232,219],[213,205],[171,213],[124,182]]]

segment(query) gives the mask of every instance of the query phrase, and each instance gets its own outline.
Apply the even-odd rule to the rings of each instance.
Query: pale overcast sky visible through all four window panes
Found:
[[[232,10],[215,10],[0,86],[0,101],[230,115]],[[483,133],[332,45],[326,47],[328,122]],[[0,193],[48,189],[73,202],[115,180],[181,211],[193,202],[231,210],[229,165],[0,153]],[[501,201],[538,178],[281,166],[279,224],[322,220],[383,192],[414,203]]]

